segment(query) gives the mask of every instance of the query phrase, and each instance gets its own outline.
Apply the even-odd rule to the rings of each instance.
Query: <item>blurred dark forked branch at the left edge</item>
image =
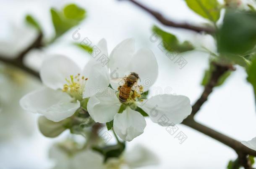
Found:
[[[0,56],[0,61],[7,63],[11,66],[15,66],[16,68],[20,68],[23,71],[26,71],[27,73],[29,73],[30,75],[39,78],[39,73],[32,70],[31,68],[28,68],[27,66],[24,65],[23,59],[25,57],[25,55],[34,48],[41,48],[42,45],[42,33],[39,33],[39,35],[37,36],[36,40],[34,40],[34,42],[28,47],[26,48],[23,52],[21,52],[17,57],[14,57],[14,59],[10,59],[8,57],[4,57],[4,56]]]

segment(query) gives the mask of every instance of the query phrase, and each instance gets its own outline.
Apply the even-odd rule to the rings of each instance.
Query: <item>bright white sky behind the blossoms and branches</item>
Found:
[[[62,8],[63,5],[74,2],[87,10],[88,17],[78,26],[81,28],[79,33],[83,38],[88,37],[93,43],[106,38],[110,52],[120,41],[133,37],[136,39],[137,49],[150,48],[156,55],[159,78],[154,86],[172,88],[171,93],[188,96],[192,104],[200,96],[203,90],[200,82],[204,70],[208,67],[209,54],[199,51],[183,53],[182,56],[188,63],[183,69],[179,69],[177,63],[170,61],[157,47],[160,41],[152,43],[149,40],[152,25],[161,26],[161,24],[125,0],[0,0],[0,38],[8,32],[9,21],[22,25],[26,13],[31,13],[39,20],[44,34],[49,38],[54,33],[50,7]],[[207,20],[189,10],[183,0],[141,0],[139,2],[161,11],[172,20],[207,23]],[[66,33],[62,39],[47,48],[46,52],[66,54],[75,58],[81,66],[84,65],[89,55],[70,45],[73,42],[72,33],[78,27]],[[181,41],[190,40],[196,43],[196,46],[204,45],[210,50],[216,50],[214,41],[208,35],[163,26],[161,28],[174,33]],[[31,57],[33,55],[31,54]],[[34,64],[38,65],[38,61]],[[196,120],[238,140],[247,141],[256,136],[253,89],[246,82],[246,73],[243,68],[237,67],[223,86],[214,89],[209,100],[197,114]],[[161,159],[161,165],[157,167],[159,169],[224,169],[230,159],[236,158],[235,151],[218,141],[186,126],[178,125],[178,127],[179,131],[183,131],[188,136],[183,144],[179,144],[178,139],[171,136],[164,127],[147,119],[144,134],[128,143],[128,149],[135,144],[143,144],[152,149]],[[52,142],[60,138],[45,138],[39,134],[36,125],[35,130],[36,134],[29,140],[16,140],[14,143],[1,146],[0,169],[1,165],[7,169],[45,169],[50,166],[47,150]],[[155,167],[145,168],[154,169]]]

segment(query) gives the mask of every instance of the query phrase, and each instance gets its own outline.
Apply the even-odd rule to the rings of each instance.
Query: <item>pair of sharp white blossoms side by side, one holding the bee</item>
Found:
[[[21,98],[21,107],[54,122],[72,119],[83,110],[94,122],[112,122],[116,134],[125,141],[131,141],[144,132],[144,116],[161,126],[171,126],[181,123],[191,114],[190,100],[186,96],[143,97],[158,76],[157,60],[151,50],[141,48],[136,51],[132,38],[119,43],[110,55],[106,40],[100,40],[97,48],[109,58],[104,66],[93,58],[83,69],[64,55],[45,59],[40,69],[45,87]],[[114,71],[115,79],[122,78],[123,83],[113,81],[110,75]],[[129,85],[127,78],[131,73],[138,79]],[[159,122],[162,116],[169,120]]]

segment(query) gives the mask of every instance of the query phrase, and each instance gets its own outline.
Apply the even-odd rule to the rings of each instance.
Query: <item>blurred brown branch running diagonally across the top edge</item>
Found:
[[[134,0],[128,0],[128,1],[130,1],[131,3],[137,5],[141,9],[143,9],[146,12],[153,15],[154,18],[159,20],[159,22],[162,23],[163,25],[174,27],[174,28],[183,28],[183,29],[187,29],[187,30],[192,30],[192,31],[195,31],[197,33],[206,32],[206,33],[211,34],[211,33],[215,32],[215,29],[211,28],[211,27],[199,27],[199,26],[195,26],[195,25],[190,25],[188,23],[176,23],[172,20],[166,19],[161,13],[158,13],[157,11],[154,11],[150,8],[147,8],[146,6],[142,5],[141,3],[138,3]]]

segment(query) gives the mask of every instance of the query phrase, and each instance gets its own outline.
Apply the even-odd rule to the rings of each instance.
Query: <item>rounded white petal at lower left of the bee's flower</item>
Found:
[[[106,123],[114,119],[121,106],[115,91],[105,88],[101,93],[89,98],[87,110],[95,122]]]

